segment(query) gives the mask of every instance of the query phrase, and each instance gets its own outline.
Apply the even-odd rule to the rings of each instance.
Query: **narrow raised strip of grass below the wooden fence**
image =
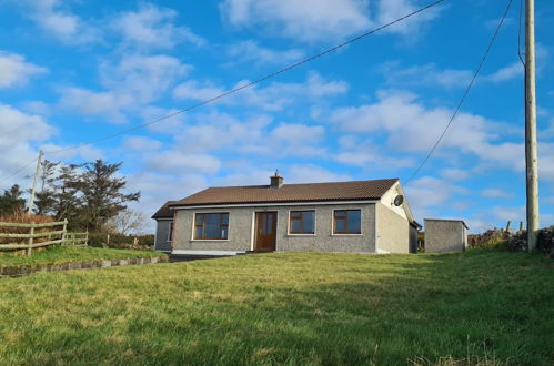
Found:
[[[34,251],[31,256],[0,252],[0,266],[24,264],[51,264],[92,260],[124,260],[164,255],[153,251],[104,250],[100,247],[54,246],[48,251]]]

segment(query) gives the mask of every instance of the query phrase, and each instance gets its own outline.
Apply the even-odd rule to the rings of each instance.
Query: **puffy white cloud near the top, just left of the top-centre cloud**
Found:
[[[138,11],[122,13],[112,21],[128,44],[141,49],[171,49],[181,42],[203,45],[205,40],[187,27],[177,27],[177,12],[152,3],[142,3]]]

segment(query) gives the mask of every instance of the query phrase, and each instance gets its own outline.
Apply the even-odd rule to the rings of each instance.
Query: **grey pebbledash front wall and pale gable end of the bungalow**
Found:
[[[377,209],[377,205],[380,206]],[[315,234],[289,234],[291,211],[315,211]],[[333,234],[333,211],[361,210],[361,234]],[[380,212],[376,222],[376,210]],[[249,206],[221,209],[179,209],[173,232],[174,250],[192,251],[251,251],[254,245],[254,217],[256,212],[278,212],[276,251],[319,251],[375,253],[380,251],[409,253],[409,222],[381,203],[314,204]],[[229,212],[228,240],[193,240],[195,213]],[[376,225],[375,225],[376,223]],[[382,247],[383,246],[383,247]]]

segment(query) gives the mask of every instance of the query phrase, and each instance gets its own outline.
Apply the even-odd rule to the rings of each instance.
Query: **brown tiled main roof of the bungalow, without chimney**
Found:
[[[209,187],[169,206],[380,200],[397,181],[283,184],[279,189],[270,185]]]

